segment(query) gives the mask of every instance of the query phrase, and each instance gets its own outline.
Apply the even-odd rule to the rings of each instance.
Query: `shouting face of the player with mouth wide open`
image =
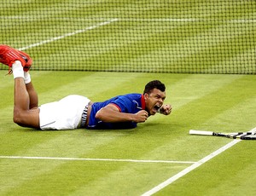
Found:
[[[154,115],[163,105],[166,99],[166,92],[162,92],[160,89],[153,89],[150,94],[146,93],[144,98],[148,114]]]

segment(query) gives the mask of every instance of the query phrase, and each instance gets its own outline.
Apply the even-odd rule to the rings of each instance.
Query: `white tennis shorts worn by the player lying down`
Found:
[[[39,107],[41,130],[74,130],[79,128],[84,107],[90,100],[81,95],[68,95],[60,101]]]

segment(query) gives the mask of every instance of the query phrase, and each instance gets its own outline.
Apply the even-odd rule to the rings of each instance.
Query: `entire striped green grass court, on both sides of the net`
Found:
[[[81,159],[197,162],[232,140],[189,135],[190,129],[225,132],[256,126],[254,1],[2,4],[0,43],[32,56],[40,105],[70,94],[104,101],[143,93],[148,81],[160,79],[173,112],[150,117],[135,130],[22,128],[12,120],[13,76],[0,66],[1,196],[141,195],[191,164]],[[79,30],[84,32],[67,36]],[[155,195],[254,195],[254,147],[254,141],[241,141]]]

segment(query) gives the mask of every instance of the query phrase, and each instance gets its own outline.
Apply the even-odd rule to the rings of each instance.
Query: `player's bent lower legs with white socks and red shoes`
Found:
[[[15,78],[15,123],[39,128],[38,95],[28,73],[32,59],[25,52],[0,45],[0,62],[9,66],[9,72],[11,69]]]

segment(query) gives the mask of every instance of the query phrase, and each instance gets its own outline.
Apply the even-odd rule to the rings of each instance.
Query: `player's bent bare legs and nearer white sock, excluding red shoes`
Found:
[[[39,129],[38,95],[31,82],[25,84],[24,77],[22,77],[24,71],[20,61],[15,61],[12,70],[15,78],[14,122],[20,126]],[[31,107],[33,108],[31,109]]]

